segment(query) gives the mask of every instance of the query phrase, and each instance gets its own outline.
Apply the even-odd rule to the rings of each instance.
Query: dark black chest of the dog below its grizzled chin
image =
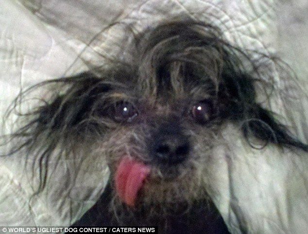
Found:
[[[149,207],[130,209],[121,207],[121,214],[115,214],[112,204],[112,188],[105,188],[100,200],[74,226],[157,226],[158,233],[229,233],[213,204],[198,201],[188,210],[171,211],[168,214],[149,216]],[[120,218],[119,216],[120,215]]]

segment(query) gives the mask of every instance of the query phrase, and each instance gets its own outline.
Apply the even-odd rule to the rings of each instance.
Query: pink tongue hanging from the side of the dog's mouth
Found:
[[[129,206],[135,206],[137,193],[145,178],[150,173],[150,167],[124,157],[116,172],[116,190],[120,199]]]

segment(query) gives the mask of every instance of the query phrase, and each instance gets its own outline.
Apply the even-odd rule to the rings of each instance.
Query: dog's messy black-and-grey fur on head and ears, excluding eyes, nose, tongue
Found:
[[[224,40],[217,28],[193,20],[163,23],[133,37],[131,61],[110,60],[108,68],[34,85],[14,101],[7,117],[19,115],[21,127],[9,136],[14,147],[8,155],[21,150],[35,154],[32,167],[39,168],[40,177],[37,192],[45,188],[49,169],[45,165],[56,149],[59,159],[75,160],[82,160],[82,153],[74,155],[76,149],[97,149],[111,171],[110,213],[119,222],[125,220],[123,214],[130,217],[122,223],[127,224],[132,220],[124,210],[129,209],[112,189],[123,155],[154,165],[138,203],[139,210],[146,210],[151,219],[155,213],[167,216],[170,210],[189,214],[198,202],[215,210],[206,195],[203,175],[206,155],[226,123],[241,128],[251,147],[258,140],[263,147],[275,144],[308,151],[307,144],[293,136],[267,107],[273,92],[279,90],[271,70],[266,71],[260,61],[266,57],[280,63],[274,57],[240,50]],[[252,54],[259,60],[252,59]],[[23,100],[42,87],[57,92],[40,100],[30,112],[17,113]],[[258,96],[266,100],[261,103]],[[196,122],[191,115],[191,107],[199,102],[210,108],[205,122]],[[129,103],[136,113],[125,121],[116,119],[119,103]],[[185,135],[191,146],[187,160],[166,168],[151,157],[151,146],[158,129],[168,129],[172,123],[172,129],[178,130],[172,134]]]

